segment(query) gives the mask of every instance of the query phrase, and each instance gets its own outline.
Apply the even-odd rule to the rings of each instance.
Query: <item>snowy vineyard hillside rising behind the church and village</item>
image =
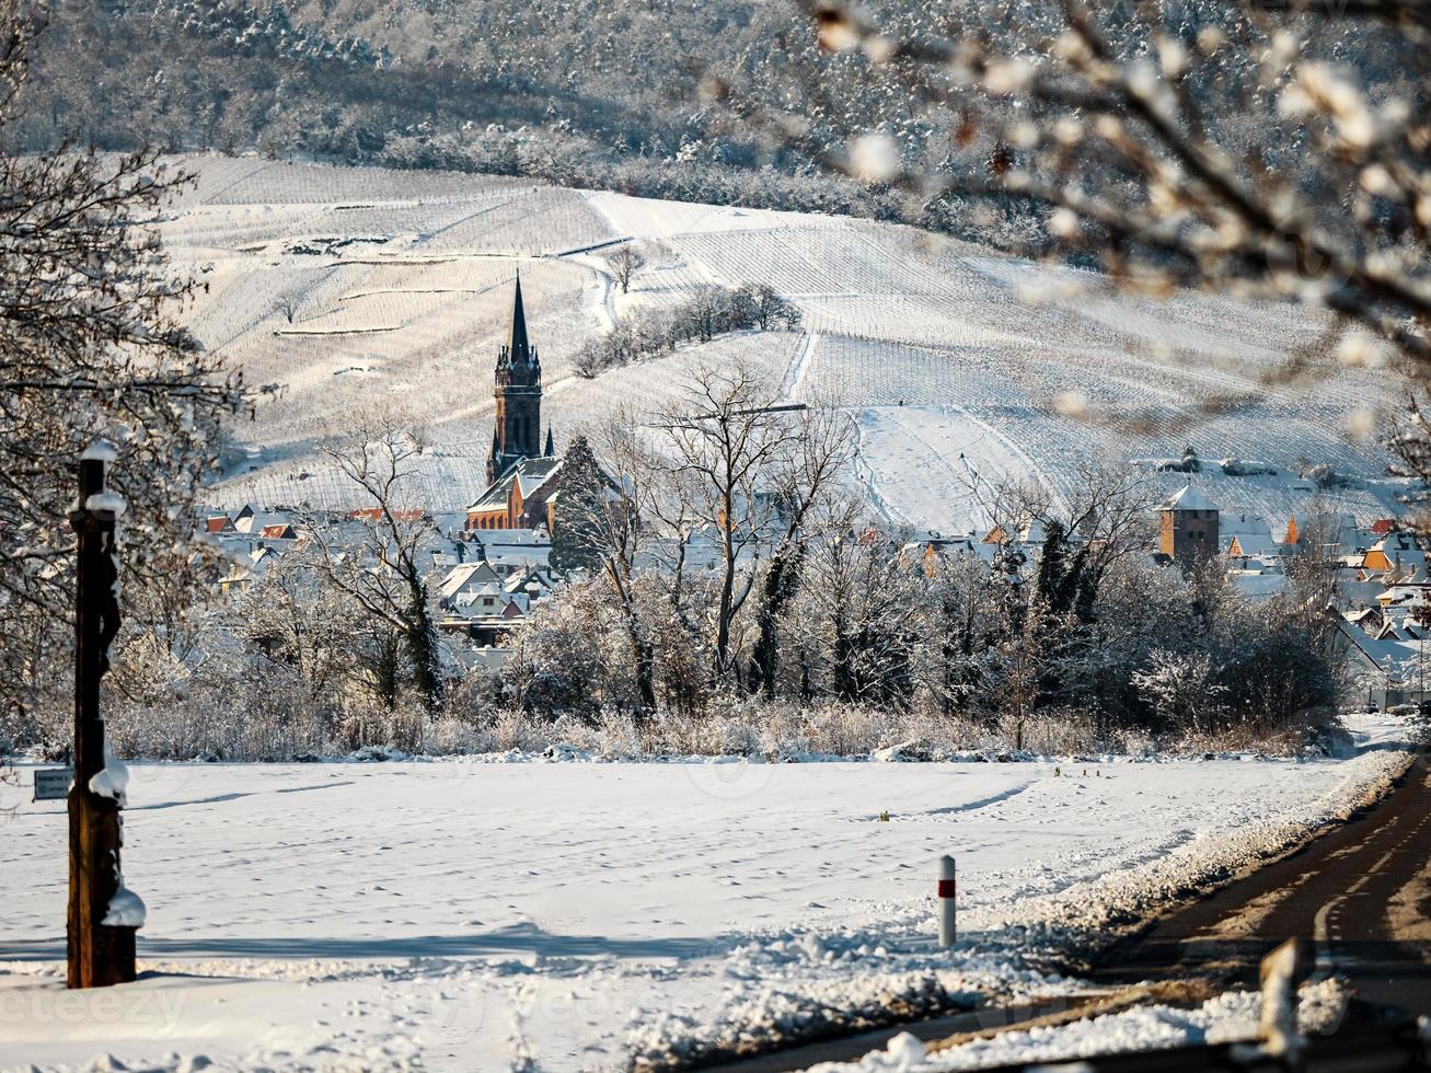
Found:
[[[1365,435],[1395,402],[1390,378],[1337,366],[1325,325],[1296,308],[1115,299],[1086,273],[846,217],[256,157],[185,163],[199,183],[163,232],[206,285],[190,323],[250,385],[275,386],[236,429],[250,456],[213,489],[222,505],[342,505],[315,442],[358,406],[392,405],[438,444],[424,498],[461,509],[482,484],[491,369],[521,268],[558,446],[615,405],[668,396],[694,362],[743,358],[793,398],[849,408],[861,479],[897,522],[969,528],[983,521],[970,485],[1017,478],[1058,495],[1073,462],[1125,466],[1189,444],[1224,511],[1279,525],[1314,502],[1362,522],[1392,509],[1384,452]],[[602,262],[610,248],[592,249],[622,240],[647,256],[628,295]],[[582,339],[710,282],[770,283],[806,332],[572,375]],[[1278,472],[1225,476],[1226,456]],[[1296,476],[1309,465],[1351,482],[1319,492]]]

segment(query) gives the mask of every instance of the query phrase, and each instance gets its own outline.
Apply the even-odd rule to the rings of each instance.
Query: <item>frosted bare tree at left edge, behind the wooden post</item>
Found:
[[[0,132],[20,119],[39,33],[29,6],[0,11]],[[183,575],[218,421],[243,402],[176,316],[192,282],[170,275],[153,220],[186,182],[150,149],[0,157],[0,691],[21,718],[69,652],[64,518],[80,452],[96,439],[116,448],[123,584],[137,594]]]

